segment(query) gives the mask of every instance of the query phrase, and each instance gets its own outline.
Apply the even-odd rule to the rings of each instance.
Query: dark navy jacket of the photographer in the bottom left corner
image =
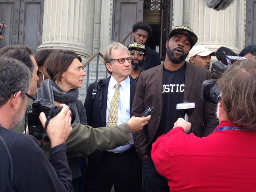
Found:
[[[50,162],[37,140],[0,127],[0,191],[73,191],[66,144],[50,150]]]

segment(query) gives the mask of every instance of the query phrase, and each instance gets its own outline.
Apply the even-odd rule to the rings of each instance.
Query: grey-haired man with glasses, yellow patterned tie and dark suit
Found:
[[[92,106],[90,84],[85,99],[87,122],[92,127],[110,127],[130,119],[136,83],[129,78],[131,61],[126,46],[113,42],[104,53],[110,77],[98,84]],[[141,116],[141,115],[140,115]],[[89,156],[87,191],[141,192],[141,167],[134,142]]]

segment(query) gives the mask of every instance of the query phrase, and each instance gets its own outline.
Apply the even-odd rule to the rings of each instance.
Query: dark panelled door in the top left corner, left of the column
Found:
[[[0,47],[26,45],[35,52],[42,43],[44,0],[0,0],[0,22],[7,28]]]

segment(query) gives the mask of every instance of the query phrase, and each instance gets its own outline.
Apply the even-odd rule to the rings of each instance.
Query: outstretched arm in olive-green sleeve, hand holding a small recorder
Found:
[[[114,149],[132,142],[131,133],[140,131],[148,123],[148,117],[131,117],[127,123],[116,127],[92,128],[77,123],[72,124],[73,131],[67,138],[67,153],[79,153],[84,156],[96,150]]]

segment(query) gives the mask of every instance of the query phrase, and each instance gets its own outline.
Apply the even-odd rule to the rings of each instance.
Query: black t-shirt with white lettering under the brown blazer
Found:
[[[185,65],[176,71],[164,68],[163,77],[163,110],[160,121],[160,132],[169,132],[179,117],[183,117],[176,109],[176,104],[183,103],[185,90]],[[184,118],[184,117],[183,117]]]

